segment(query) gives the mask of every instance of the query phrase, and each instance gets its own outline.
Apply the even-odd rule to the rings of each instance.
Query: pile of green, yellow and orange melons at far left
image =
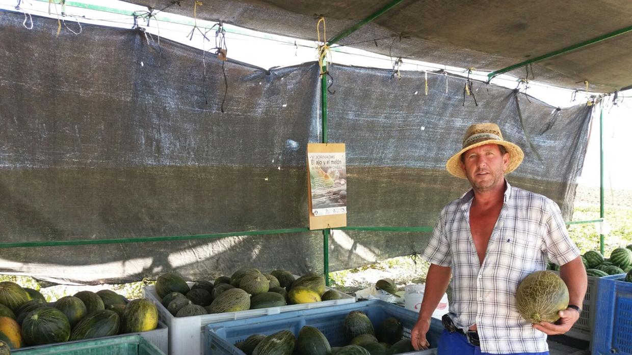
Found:
[[[108,289],[80,291],[47,303],[34,289],[0,282],[0,340],[11,349],[145,332],[157,324],[153,303],[128,301]]]

